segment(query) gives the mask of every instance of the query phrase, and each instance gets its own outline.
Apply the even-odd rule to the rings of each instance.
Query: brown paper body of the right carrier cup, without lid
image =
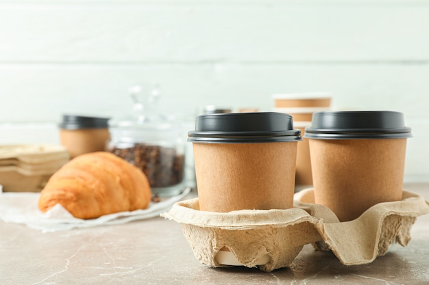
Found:
[[[402,199],[406,139],[310,139],[315,202],[350,221]]]

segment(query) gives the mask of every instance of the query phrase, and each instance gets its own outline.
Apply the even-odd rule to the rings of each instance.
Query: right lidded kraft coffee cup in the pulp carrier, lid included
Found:
[[[305,129],[315,203],[351,221],[371,206],[402,200],[406,139],[395,111],[321,111]]]

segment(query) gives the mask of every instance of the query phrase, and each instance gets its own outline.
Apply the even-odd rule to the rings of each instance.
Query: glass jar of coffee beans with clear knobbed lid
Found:
[[[141,87],[130,88],[134,106],[130,116],[110,124],[108,151],[132,163],[146,174],[152,192],[177,195],[184,187],[185,140],[180,122],[164,116],[154,87],[140,101]],[[143,102],[143,103],[142,103]]]

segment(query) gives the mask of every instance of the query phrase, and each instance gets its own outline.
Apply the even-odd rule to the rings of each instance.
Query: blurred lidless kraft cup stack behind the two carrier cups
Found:
[[[274,111],[289,113],[295,128],[304,135],[304,129],[310,126],[312,114],[317,111],[328,111],[331,107],[329,92],[306,92],[295,94],[273,94]],[[299,141],[297,148],[296,186],[312,185],[310,150],[308,139]]]

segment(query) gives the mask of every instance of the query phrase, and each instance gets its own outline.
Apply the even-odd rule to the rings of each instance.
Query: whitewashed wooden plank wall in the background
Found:
[[[269,111],[282,92],[402,111],[406,180],[429,181],[429,0],[0,0],[0,143],[119,116],[135,83],[190,128],[202,105]]]

